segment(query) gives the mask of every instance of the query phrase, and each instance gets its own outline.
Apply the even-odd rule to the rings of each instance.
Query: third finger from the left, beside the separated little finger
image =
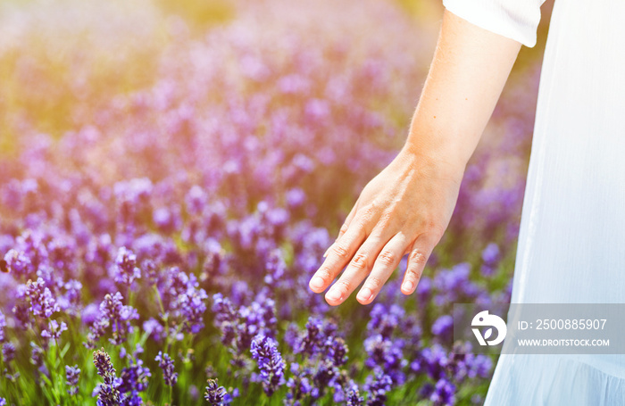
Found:
[[[379,253],[369,278],[364,282],[356,300],[361,304],[369,304],[379,294],[393,271],[404,256],[409,239],[403,232],[397,233],[388,241]]]

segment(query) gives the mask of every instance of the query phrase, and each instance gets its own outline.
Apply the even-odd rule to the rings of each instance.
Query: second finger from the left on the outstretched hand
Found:
[[[361,284],[364,278],[369,275],[380,251],[382,251],[382,248],[392,236],[386,230],[380,231],[384,234],[380,234],[375,230],[371,232],[371,235],[362,243],[352,261],[347,265],[341,278],[329,288],[326,294],[326,302],[329,305],[336,306],[344,302],[354,292],[355,288]]]

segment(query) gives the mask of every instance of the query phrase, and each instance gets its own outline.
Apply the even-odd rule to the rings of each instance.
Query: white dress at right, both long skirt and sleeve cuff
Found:
[[[525,46],[542,3],[443,1]],[[555,0],[512,302],[625,302],[624,0]],[[625,405],[625,355],[504,354],[485,404]]]

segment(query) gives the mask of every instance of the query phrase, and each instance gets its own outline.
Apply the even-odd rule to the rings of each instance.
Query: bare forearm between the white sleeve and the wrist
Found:
[[[463,170],[520,49],[519,42],[445,11],[404,149]]]

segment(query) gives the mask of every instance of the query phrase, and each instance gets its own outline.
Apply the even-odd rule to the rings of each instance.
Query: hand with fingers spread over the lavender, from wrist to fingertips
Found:
[[[412,294],[432,250],[454,212],[464,168],[402,150],[387,168],[371,179],[341,227],[337,240],[309,286],[326,294],[336,306],[367,278],[356,296],[373,301],[405,253],[408,265],[401,291]]]

